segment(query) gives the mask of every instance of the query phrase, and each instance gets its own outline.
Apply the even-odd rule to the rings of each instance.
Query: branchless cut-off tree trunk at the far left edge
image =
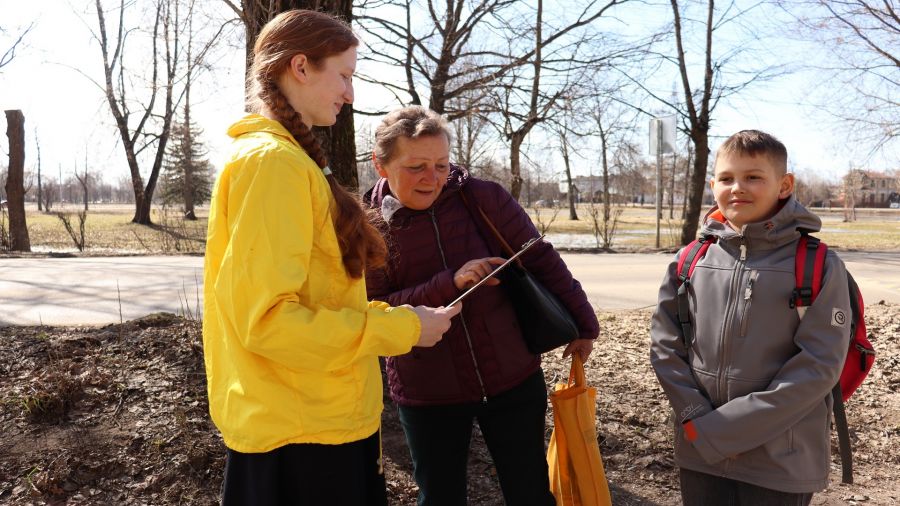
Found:
[[[25,221],[25,116],[22,111],[6,112],[6,136],[9,138],[9,174],[6,177],[9,210],[10,251],[31,251]]]

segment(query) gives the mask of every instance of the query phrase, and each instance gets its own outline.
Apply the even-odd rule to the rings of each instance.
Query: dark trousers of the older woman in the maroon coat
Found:
[[[478,420],[506,504],[555,505],[544,449],[543,371],[487,403],[400,406],[421,506],[465,506],[472,422]]]

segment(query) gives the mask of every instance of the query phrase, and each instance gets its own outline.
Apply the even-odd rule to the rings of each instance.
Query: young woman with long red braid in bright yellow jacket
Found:
[[[254,47],[251,114],[210,207],[203,345],[228,447],[223,504],[386,504],[379,355],[433,346],[459,312],[369,303],[385,246],[310,128],[353,101],[357,39],[294,10]]]

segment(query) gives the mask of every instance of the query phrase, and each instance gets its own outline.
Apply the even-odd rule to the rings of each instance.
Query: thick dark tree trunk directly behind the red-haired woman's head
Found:
[[[254,0],[242,0],[244,29],[247,34],[247,77],[253,62],[253,45],[265,24],[275,15],[290,9],[309,9],[333,14],[347,23],[353,22],[351,0],[270,0],[268,5]],[[356,168],[356,130],[353,124],[353,107],[345,105],[331,127],[315,128],[328,155],[329,166],[335,179],[354,191],[359,186]]]

